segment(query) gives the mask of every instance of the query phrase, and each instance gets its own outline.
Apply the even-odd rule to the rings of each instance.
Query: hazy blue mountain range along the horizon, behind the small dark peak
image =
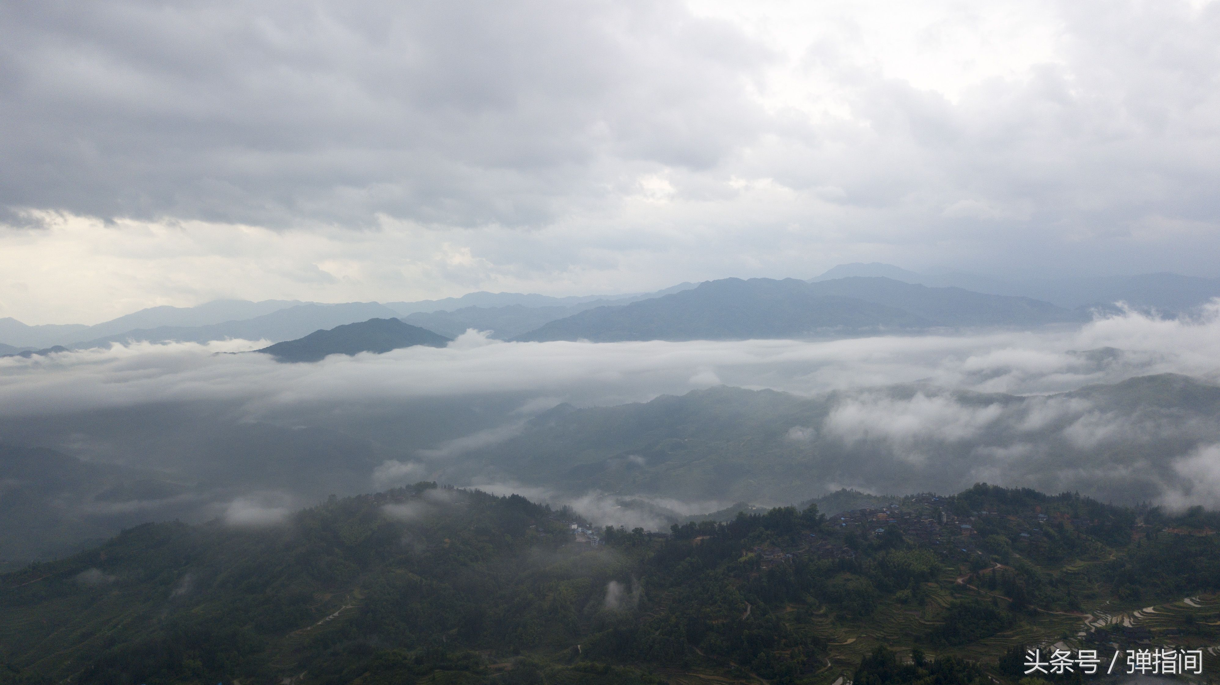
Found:
[[[926,289],[903,289],[893,283],[884,283],[886,279]],[[743,299],[743,294],[733,293],[728,284],[765,280],[769,279],[722,279],[708,283],[719,283],[720,285],[712,286],[720,289],[717,293],[737,299],[736,303],[726,302],[726,306],[749,307],[748,295]],[[699,302],[699,296],[689,295],[689,299],[680,302],[694,310],[680,312],[673,321],[666,321],[672,318],[673,312],[662,311],[664,306],[636,307],[628,312],[611,311],[694,290],[697,286],[691,283],[655,293],[614,296],[553,297],[520,293],[471,293],[461,297],[416,302],[338,305],[296,300],[216,300],[196,307],[150,307],[95,325],[26,325],[13,318],[0,318],[0,355],[37,352],[56,345],[88,349],[127,341],[206,342],[240,338],[281,342],[336,325],[392,317],[449,338],[475,328],[492,332],[499,339],[520,340],[632,340],[640,335],[677,340],[791,336],[819,330],[844,333],[947,325],[1039,325],[1087,319],[1092,310],[1114,311],[1114,303],[1119,301],[1136,308],[1177,316],[1190,313],[1220,296],[1220,279],[1172,273],[1008,282],[964,272],[924,274],[882,263],[839,264],[811,278],[809,284],[814,288],[799,294],[793,284],[770,286],[773,291],[771,294],[765,294],[764,288],[758,286],[756,296],[766,302],[760,300],[756,303],[762,305],[764,310],[734,313],[734,317],[745,314],[747,318],[741,323],[716,322],[715,308],[705,307]],[[792,291],[792,296],[804,300],[778,302],[776,291],[784,288]],[[956,291],[949,293],[949,289]],[[708,293],[704,290],[700,295]],[[824,299],[815,302],[810,299],[814,296]],[[987,296],[1015,297],[1020,302]],[[836,301],[833,297],[863,300],[874,306],[863,307],[860,302]],[[1049,308],[1047,303],[1071,310],[1072,314]],[[876,305],[902,310],[908,316],[877,308]],[[791,307],[802,311],[793,311]],[[775,321],[762,325],[760,317],[755,316],[762,312],[791,321]],[[558,323],[571,317],[580,318]],[[661,318],[649,323],[649,317]],[[754,325],[747,325],[752,321]],[[584,327],[590,328],[584,330]],[[650,333],[633,333],[637,328]]]

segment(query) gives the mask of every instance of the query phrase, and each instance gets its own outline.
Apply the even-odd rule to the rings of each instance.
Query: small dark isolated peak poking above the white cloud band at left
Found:
[[[277,342],[257,351],[281,362],[317,362],[328,355],[384,353],[415,345],[444,347],[450,340],[396,318],[372,318],[329,330],[316,330],[299,340]]]

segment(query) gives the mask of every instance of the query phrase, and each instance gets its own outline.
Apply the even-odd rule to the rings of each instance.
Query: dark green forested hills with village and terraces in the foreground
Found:
[[[421,483],[0,577],[0,684],[1016,681],[1057,642],[1213,645],[1218,529],[977,485],[659,534]]]

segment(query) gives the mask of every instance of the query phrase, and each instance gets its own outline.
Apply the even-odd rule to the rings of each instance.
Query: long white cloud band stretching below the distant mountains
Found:
[[[1127,312],[1078,329],[1042,332],[615,344],[473,344],[464,336],[444,349],[334,355],[311,364],[232,353],[260,345],[240,340],[134,344],[2,358],[0,416],[226,401],[256,417],[316,403],[508,392],[537,395],[523,407],[532,413],[560,401],[611,405],[684,394],[706,386],[708,374],[727,385],[804,395],[913,382],[1028,395],[1165,372],[1215,380],[1220,378],[1220,305],[1197,319]],[[924,411],[935,417],[936,408],[933,402]],[[917,419],[913,417],[911,425]],[[511,434],[512,429],[500,430]],[[437,449],[458,453],[501,438],[492,431]]]

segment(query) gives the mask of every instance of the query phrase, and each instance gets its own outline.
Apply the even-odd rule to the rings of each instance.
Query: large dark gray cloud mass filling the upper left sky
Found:
[[[277,225],[547,223],[754,139],[766,59],[675,2],[49,2],[0,30],[5,204]]]

